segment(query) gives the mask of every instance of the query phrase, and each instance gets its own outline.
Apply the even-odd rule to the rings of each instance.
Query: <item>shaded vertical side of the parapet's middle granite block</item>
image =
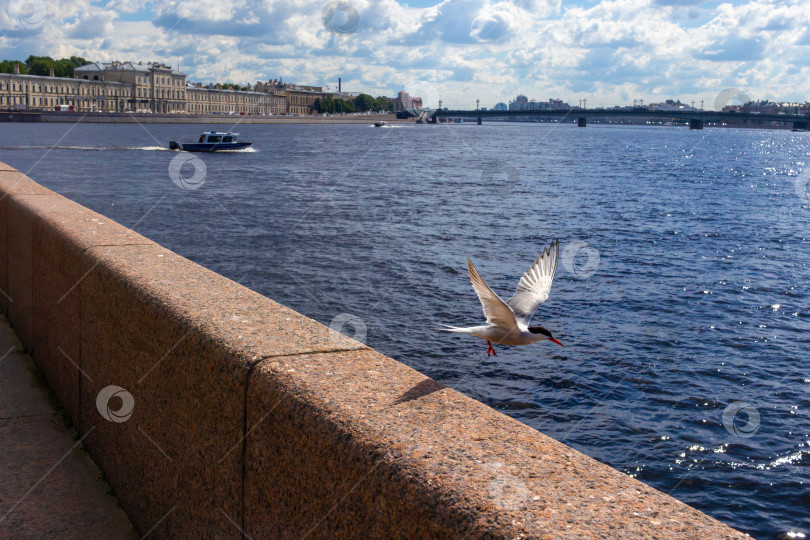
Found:
[[[84,264],[95,269],[80,285],[82,366],[92,377],[81,386],[80,432],[92,430],[91,456],[141,534],[238,538],[228,518],[241,522],[242,454],[221,458],[242,434],[251,358],[130,281],[137,265],[127,268],[115,257],[97,265],[106,250],[93,251]],[[115,251],[170,255],[149,246]],[[133,396],[125,422],[97,410],[97,396],[109,385]]]

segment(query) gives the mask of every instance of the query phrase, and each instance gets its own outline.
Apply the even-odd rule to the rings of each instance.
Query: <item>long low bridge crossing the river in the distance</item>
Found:
[[[714,112],[714,111],[657,111],[644,107],[631,110],[620,109],[559,109],[535,111],[484,111],[484,110],[436,110],[430,115],[433,122],[441,118],[474,118],[479,123],[484,118],[576,118],[579,127],[585,127],[593,118],[666,118],[689,120],[690,129],[703,129],[705,123],[755,121],[757,123],[785,122],[792,124],[795,131],[804,131],[810,125],[810,116],[798,114],[771,114],[758,112]],[[763,126],[764,127],[764,126]]]

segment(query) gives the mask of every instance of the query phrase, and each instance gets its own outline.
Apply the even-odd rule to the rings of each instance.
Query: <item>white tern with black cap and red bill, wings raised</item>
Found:
[[[515,294],[506,302],[489,288],[470,258],[467,257],[470,281],[484,308],[487,323],[466,328],[445,324],[443,326],[446,328],[441,328],[441,330],[469,334],[486,340],[489,345],[487,356],[490,353],[498,356],[492,347],[493,342],[501,345],[531,345],[538,341],[548,340],[562,346],[562,343],[554,339],[551,332],[542,326],[529,326],[538,306],[548,298],[551,282],[557,271],[559,254],[560,240],[557,239],[540,253],[531,268],[520,278]]]

